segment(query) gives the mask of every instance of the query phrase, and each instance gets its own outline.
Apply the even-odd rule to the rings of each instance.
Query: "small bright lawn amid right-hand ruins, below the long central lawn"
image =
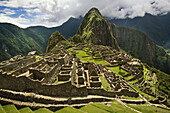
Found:
[[[121,72],[119,70],[119,66],[116,67],[107,67],[108,69],[110,69],[111,71],[115,72],[117,75],[119,75],[120,77],[123,78],[124,75],[127,74],[127,72],[123,69],[121,69]]]

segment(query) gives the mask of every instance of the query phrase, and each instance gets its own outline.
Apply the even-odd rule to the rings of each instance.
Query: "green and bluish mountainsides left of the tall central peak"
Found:
[[[0,23],[0,61],[7,60],[15,55],[26,55],[36,50],[44,53],[51,34],[58,30],[64,37],[69,38],[76,34],[82,18],[70,18],[59,27],[46,28],[34,26],[22,29],[8,23]]]

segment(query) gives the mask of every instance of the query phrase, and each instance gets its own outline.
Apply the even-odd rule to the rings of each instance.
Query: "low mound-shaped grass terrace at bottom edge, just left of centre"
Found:
[[[65,107],[63,109],[56,111],[55,113],[85,113],[85,112],[83,112],[79,109],[68,106],[68,107]]]

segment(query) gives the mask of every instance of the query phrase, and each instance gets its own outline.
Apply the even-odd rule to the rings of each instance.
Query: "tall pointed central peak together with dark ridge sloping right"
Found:
[[[170,57],[162,47],[154,44],[149,36],[141,31],[111,25],[95,8],[85,15],[77,35],[73,39],[76,37],[77,40],[81,39],[81,42],[107,45],[113,48],[119,48],[118,42],[120,48],[133,57],[170,73]]]

